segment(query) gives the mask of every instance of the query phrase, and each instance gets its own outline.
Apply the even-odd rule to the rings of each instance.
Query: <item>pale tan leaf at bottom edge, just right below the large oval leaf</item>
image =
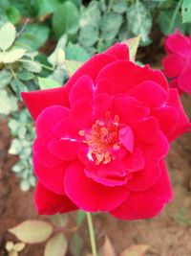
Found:
[[[64,256],[66,252],[67,240],[62,233],[58,233],[46,244],[44,256]]]

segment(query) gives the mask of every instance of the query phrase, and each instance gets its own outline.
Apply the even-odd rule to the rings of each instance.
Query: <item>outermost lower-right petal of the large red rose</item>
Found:
[[[172,186],[163,162],[160,163],[160,169],[158,181],[149,190],[130,193],[129,198],[111,214],[122,220],[149,219],[158,215],[173,198]]]

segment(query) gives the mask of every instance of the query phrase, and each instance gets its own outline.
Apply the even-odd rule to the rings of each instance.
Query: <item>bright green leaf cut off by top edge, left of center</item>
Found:
[[[53,13],[60,6],[59,0],[36,0],[35,2],[38,9],[38,16]]]

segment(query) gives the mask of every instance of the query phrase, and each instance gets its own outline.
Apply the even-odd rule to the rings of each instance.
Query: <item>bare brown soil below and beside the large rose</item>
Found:
[[[191,98],[182,96],[186,112],[191,117]],[[0,255],[8,255],[7,241],[16,242],[7,231],[21,221],[39,219],[33,205],[33,191],[21,192],[19,180],[11,173],[16,157],[7,152],[10,132],[6,120],[0,122]],[[117,252],[132,244],[149,244],[146,256],[191,255],[191,133],[184,134],[171,146],[168,167],[172,178],[175,198],[159,217],[148,221],[118,221],[107,214],[95,218],[96,240],[100,246],[107,234]],[[75,213],[70,215],[74,225]],[[84,238],[85,250],[90,251],[88,231],[84,222],[79,233]],[[41,256],[44,244],[29,245],[19,255]],[[71,255],[68,252],[68,255]],[[81,254],[84,255],[84,252]],[[109,256],[109,255],[108,255]]]

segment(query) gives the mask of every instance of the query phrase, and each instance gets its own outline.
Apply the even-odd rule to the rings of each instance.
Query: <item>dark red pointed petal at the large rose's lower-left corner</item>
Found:
[[[65,195],[57,195],[37,182],[35,190],[35,206],[38,214],[60,214],[74,211],[77,207]]]

